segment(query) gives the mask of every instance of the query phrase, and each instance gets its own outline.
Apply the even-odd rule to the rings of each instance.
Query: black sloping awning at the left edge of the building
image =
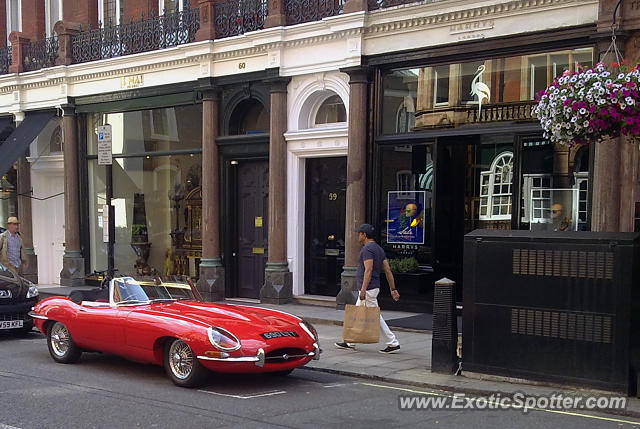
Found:
[[[24,155],[31,142],[55,115],[55,111],[26,113],[24,121],[0,145],[0,175],[9,171],[13,163]]]

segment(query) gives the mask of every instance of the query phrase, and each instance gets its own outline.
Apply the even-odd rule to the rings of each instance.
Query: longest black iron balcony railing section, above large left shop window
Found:
[[[83,31],[71,37],[74,63],[120,57],[154,51],[194,42],[200,28],[200,9],[190,8],[185,1],[184,10],[167,11],[150,18]]]

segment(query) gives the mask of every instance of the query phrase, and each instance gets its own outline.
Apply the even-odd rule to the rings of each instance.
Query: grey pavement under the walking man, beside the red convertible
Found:
[[[68,295],[75,289],[56,285],[40,285],[38,288],[42,297]],[[240,299],[228,299],[224,302],[272,308],[304,317],[311,322],[318,331],[322,349],[320,359],[311,361],[305,367],[314,371],[474,395],[489,396],[500,393],[504,396],[518,392],[536,396],[550,396],[560,392],[582,396],[611,395],[610,392],[469,373],[464,370],[459,375],[433,373],[431,372],[431,332],[428,330],[391,327],[400,342],[400,350],[393,354],[379,352],[386,346],[383,343],[357,344],[355,350],[338,349],[334,343],[341,341],[342,338],[344,310],[338,310],[335,307],[261,304],[257,300]],[[413,315],[417,313],[382,311],[382,316],[388,323],[393,319]],[[640,418],[640,398],[629,398],[626,410],[616,410],[612,413]]]

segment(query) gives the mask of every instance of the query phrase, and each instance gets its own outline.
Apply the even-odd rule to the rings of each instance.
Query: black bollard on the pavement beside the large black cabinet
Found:
[[[445,277],[435,283],[433,293],[431,372],[446,374],[456,372],[458,369],[457,346],[456,282]]]

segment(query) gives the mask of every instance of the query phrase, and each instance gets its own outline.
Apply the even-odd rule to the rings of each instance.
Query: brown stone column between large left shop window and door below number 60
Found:
[[[220,164],[218,162],[217,88],[202,91],[202,259],[198,291],[206,301],[224,299],[220,259]],[[206,166],[206,168],[204,168]]]

